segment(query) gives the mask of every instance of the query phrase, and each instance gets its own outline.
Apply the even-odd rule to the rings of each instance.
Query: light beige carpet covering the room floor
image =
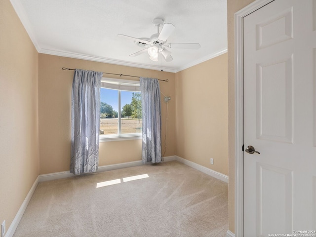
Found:
[[[41,182],[13,237],[224,237],[227,230],[227,183],[169,161]]]

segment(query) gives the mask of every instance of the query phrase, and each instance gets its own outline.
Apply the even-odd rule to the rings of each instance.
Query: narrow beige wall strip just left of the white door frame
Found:
[[[254,0],[227,0],[229,230],[235,233],[235,13]]]

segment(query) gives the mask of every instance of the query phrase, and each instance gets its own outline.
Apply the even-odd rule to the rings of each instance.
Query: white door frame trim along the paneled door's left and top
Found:
[[[235,236],[243,237],[243,18],[274,0],[255,0],[235,13]]]

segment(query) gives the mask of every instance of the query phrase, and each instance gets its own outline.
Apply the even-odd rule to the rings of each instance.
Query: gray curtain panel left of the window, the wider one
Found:
[[[102,72],[75,70],[71,108],[70,172],[73,174],[98,169],[102,75]]]

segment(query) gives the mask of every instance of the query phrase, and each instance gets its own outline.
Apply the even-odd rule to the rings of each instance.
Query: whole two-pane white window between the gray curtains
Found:
[[[101,142],[141,139],[139,81],[102,78],[100,100]]]

